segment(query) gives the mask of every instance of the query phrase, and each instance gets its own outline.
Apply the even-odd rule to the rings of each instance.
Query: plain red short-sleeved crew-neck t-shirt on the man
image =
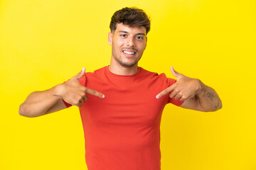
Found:
[[[182,102],[169,95],[157,99],[156,94],[176,80],[142,67],[132,76],[113,74],[103,67],[85,73],[79,82],[105,95],[87,94],[80,108],[87,169],[161,169],[161,114],[166,103],[181,106]]]

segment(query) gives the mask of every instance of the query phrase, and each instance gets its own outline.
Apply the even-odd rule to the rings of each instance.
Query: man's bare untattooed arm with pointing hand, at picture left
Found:
[[[104,98],[103,94],[88,89],[78,82],[83,74],[85,74],[85,68],[82,68],[80,73],[65,82],[65,84],[58,84],[46,91],[31,93],[19,107],[18,113],[33,118],[67,108],[63,100],[71,105],[81,107],[82,103],[87,101],[86,94]]]

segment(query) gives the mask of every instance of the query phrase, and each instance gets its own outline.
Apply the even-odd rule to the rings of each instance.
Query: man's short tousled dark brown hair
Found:
[[[137,7],[125,7],[116,11],[110,22],[110,30],[114,32],[117,29],[117,23],[123,23],[130,27],[141,27],[146,28],[146,34],[150,30],[150,20],[146,13]]]

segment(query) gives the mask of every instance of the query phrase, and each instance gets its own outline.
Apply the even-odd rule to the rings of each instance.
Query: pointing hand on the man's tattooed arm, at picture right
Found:
[[[156,98],[161,98],[161,96],[169,94],[172,91],[169,95],[170,98],[186,101],[189,98],[193,98],[199,91],[201,91],[201,89],[203,89],[203,84],[201,84],[199,79],[186,77],[183,74],[176,72],[174,67],[171,67],[171,73],[178,79],[178,81],[167,89],[164,89],[164,91],[161,91],[160,94],[156,95]]]

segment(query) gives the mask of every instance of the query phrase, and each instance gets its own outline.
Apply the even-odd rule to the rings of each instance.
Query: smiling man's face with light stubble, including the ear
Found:
[[[137,65],[146,48],[146,28],[117,23],[117,29],[109,33],[108,39],[112,45],[111,63],[132,67]]]

